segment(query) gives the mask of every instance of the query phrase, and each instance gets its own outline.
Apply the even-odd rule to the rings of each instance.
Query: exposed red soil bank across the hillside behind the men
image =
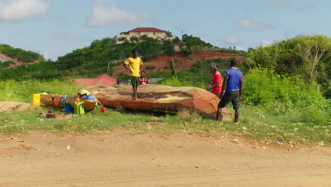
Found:
[[[236,57],[240,62],[242,62],[243,57],[237,54],[228,54],[223,52],[194,52],[190,55],[189,58],[185,58],[182,55],[174,55],[173,60],[175,61],[176,72],[180,72],[182,70],[187,70],[192,67],[197,61],[200,60],[210,60],[210,59],[229,59],[232,57]],[[151,60],[144,62],[144,70],[148,74],[150,72],[170,72],[170,67],[172,66],[171,59],[168,55],[156,57]],[[155,67],[154,69],[146,69],[146,67]],[[112,67],[112,77],[117,78],[118,74],[129,74],[125,71],[122,64]]]

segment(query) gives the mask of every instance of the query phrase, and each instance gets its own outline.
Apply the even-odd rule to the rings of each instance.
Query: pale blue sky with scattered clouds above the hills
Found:
[[[327,0],[0,0],[0,44],[57,60],[138,27],[238,50],[296,35],[330,37]]]

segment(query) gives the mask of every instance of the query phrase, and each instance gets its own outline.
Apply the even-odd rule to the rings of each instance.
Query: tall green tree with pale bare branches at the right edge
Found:
[[[298,35],[248,50],[244,64],[248,69],[266,67],[277,74],[301,75],[306,82],[326,85],[326,77],[330,77],[330,48],[331,39],[325,35]]]

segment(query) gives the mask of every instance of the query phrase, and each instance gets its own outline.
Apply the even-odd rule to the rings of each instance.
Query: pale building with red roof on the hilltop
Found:
[[[173,35],[169,37],[167,33],[167,31],[158,28],[134,28],[127,32],[121,32],[119,35],[115,35],[115,37],[112,39],[114,40],[115,44],[120,44],[125,40],[129,42],[141,42],[141,36],[143,35],[159,41],[173,40],[175,38]]]

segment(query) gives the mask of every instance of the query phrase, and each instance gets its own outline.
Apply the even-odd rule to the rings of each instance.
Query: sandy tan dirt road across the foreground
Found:
[[[0,186],[331,186],[331,149],[185,133],[0,136]]]

